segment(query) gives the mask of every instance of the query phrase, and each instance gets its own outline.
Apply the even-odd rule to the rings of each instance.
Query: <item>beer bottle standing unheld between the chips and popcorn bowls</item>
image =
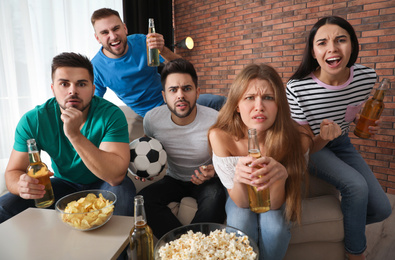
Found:
[[[151,228],[147,225],[144,198],[134,197],[134,227],[130,231],[130,250],[132,260],[153,260],[154,241]]]

